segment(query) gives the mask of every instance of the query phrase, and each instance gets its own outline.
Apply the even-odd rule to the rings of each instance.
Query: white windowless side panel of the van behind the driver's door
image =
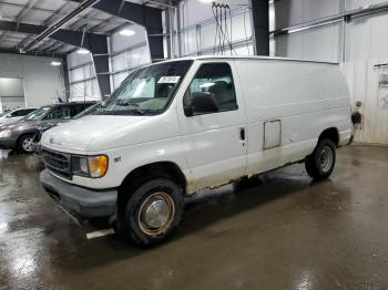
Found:
[[[282,60],[236,60],[246,100],[247,175],[269,170],[310,154],[320,133],[350,138],[350,99],[345,79],[334,64]],[[280,146],[265,148],[264,128],[279,120]]]

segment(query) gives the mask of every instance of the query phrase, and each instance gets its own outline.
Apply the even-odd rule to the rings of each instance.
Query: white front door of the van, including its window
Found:
[[[183,103],[193,93],[212,94],[217,112],[185,115],[180,105],[185,157],[195,189],[226,184],[246,170],[246,115],[233,62],[203,63],[191,81]]]

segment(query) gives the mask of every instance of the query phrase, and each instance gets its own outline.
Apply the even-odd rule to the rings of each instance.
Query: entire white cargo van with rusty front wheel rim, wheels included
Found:
[[[327,178],[349,143],[337,64],[193,58],[140,69],[93,115],[42,137],[41,183],[72,214],[116,217],[141,245],[166,238],[183,198],[288,164]]]

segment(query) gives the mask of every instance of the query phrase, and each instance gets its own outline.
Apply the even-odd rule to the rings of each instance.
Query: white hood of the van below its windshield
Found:
[[[54,151],[79,154],[127,146],[155,137],[147,134],[146,127],[155,126],[157,117],[89,115],[48,130],[41,144]],[[160,128],[160,124],[157,126]],[[135,134],[137,132],[142,134]]]

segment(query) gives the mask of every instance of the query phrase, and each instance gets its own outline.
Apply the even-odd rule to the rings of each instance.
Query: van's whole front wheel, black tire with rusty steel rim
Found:
[[[129,198],[119,217],[120,231],[136,245],[157,245],[180,224],[184,203],[182,188],[175,182],[152,178],[125,194]]]

